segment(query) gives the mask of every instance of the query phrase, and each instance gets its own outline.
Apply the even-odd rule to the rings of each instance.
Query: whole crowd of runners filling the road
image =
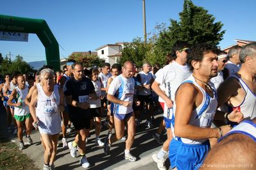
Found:
[[[135,63],[126,61],[123,66],[104,63],[102,70],[98,66],[85,70],[82,63],[70,59],[60,78],[51,68],[43,67],[38,71],[40,79],[35,82],[28,83],[21,74],[13,74],[12,79],[5,75],[0,88],[8,130],[12,130],[14,118],[13,130],[17,129],[20,149],[24,149],[24,125],[28,144],[33,143],[31,125],[40,131],[44,169],[55,168],[61,131],[63,147],[70,149],[72,157],[77,157],[79,151],[81,166],[90,167],[85,151],[94,122],[95,144],[103,146],[106,155],[112,143],[123,139],[124,158],[137,160],[130,152],[136,127],[141,124],[142,113],[146,114],[146,126],[153,127],[153,112],[158,107],[164,111],[163,121],[153,134],[153,138],[163,144],[160,151],[152,155],[158,169],[167,169],[168,151],[172,169],[198,169],[203,167],[205,157],[208,164],[221,162],[214,154],[232,135],[239,133],[255,145],[255,74],[256,43],[232,47],[226,54],[207,43],[191,46],[178,41],[163,68],[154,65],[152,69],[144,62],[139,72]],[[105,108],[108,135],[101,141],[101,117]],[[68,142],[66,133],[71,122],[76,137]],[[167,139],[163,142],[160,135],[164,127]],[[239,140],[239,136],[234,137]],[[214,149],[210,151],[210,148]]]

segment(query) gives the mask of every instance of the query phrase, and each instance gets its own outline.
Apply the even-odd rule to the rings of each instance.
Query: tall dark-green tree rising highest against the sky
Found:
[[[223,24],[215,22],[215,17],[200,6],[195,6],[191,0],[184,0],[180,22],[171,19],[167,30],[160,33],[157,44],[164,54],[171,52],[176,40],[184,40],[190,44],[211,43],[218,45],[225,31]]]

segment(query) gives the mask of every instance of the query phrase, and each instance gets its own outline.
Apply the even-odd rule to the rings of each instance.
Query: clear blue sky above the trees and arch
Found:
[[[160,23],[169,26],[169,19],[179,20],[182,0],[145,0],[147,32]],[[226,30],[221,48],[234,39],[256,41],[255,0],[193,0],[221,21]],[[142,0],[1,0],[2,15],[46,20],[60,47],[60,58],[74,51],[95,51],[108,43],[132,42],[143,37]],[[21,55],[25,61],[42,61],[45,49],[37,35],[28,42],[0,41],[3,56]]]

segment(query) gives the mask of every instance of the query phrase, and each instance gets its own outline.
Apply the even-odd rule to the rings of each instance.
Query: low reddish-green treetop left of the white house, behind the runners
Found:
[[[74,59],[77,62],[83,63],[85,67],[102,66],[105,63],[104,59],[94,55],[85,55],[82,52],[72,54],[68,59]]]

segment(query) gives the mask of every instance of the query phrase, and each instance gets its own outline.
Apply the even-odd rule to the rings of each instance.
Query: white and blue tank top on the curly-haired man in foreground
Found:
[[[214,92],[214,97],[212,98],[203,88],[201,88],[201,86],[195,81],[192,75],[188,79],[186,79],[183,83],[185,82],[194,84],[194,86],[200,89],[203,95],[203,100],[201,104],[192,111],[189,125],[193,125],[195,127],[201,127],[201,128],[210,128],[210,126],[212,125],[212,121],[214,120],[215,112],[218,105],[217,93],[216,93],[216,89],[214,88],[214,84],[212,84],[212,82],[209,82]],[[182,141],[182,143],[185,143],[185,144],[201,144],[207,141],[207,139],[193,140],[193,139],[187,139],[183,137],[176,137],[174,134],[175,109],[176,109],[176,103],[174,102],[174,105],[173,105],[174,117],[172,119],[172,125],[171,125],[173,137],[175,137],[176,140]]]

